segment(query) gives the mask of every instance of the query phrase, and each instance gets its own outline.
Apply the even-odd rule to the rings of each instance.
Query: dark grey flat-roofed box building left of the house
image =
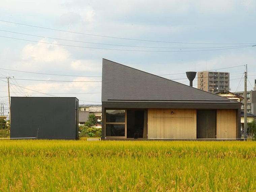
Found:
[[[11,97],[10,137],[78,139],[75,97]]]

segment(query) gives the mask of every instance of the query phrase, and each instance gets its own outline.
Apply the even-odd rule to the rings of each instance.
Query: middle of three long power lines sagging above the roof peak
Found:
[[[157,46],[134,46],[134,45],[121,45],[121,44],[108,44],[108,43],[95,43],[95,42],[88,42],[88,41],[77,41],[77,40],[69,40],[69,39],[61,39],[61,38],[53,38],[53,37],[45,37],[40,35],[32,35],[27,33],[19,33],[14,31],[7,31],[1,30],[8,33],[15,33],[21,35],[28,35],[33,37],[40,37],[40,38],[48,38],[48,39],[55,39],[55,40],[63,40],[63,41],[70,41],[70,42],[79,42],[79,43],[90,43],[90,44],[97,44],[97,45],[110,45],[110,46],[125,46],[125,47],[138,47],[138,48],[154,48],[154,49],[216,49],[216,48],[231,48],[231,47],[243,47],[244,45],[236,45],[236,46],[221,46],[221,47],[157,47]],[[249,43],[254,45],[253,43]],[[248,45],[249,45],[248,44]]]

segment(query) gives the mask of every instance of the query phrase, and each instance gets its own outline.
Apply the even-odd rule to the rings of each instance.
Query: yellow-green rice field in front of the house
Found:
[[[0,191],[256,191],[254,141],[0,140]]]

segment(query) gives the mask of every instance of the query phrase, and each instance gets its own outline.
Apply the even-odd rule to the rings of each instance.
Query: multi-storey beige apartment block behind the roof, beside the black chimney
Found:
[[[210,93],[229,91],[229,73],[200,71],[197,73],[197,88]]]

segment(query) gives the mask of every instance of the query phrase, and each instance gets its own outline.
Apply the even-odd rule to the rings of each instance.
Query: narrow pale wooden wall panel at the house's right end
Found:
[[[217,110],[217,139],[236,138],[236,110]]]

